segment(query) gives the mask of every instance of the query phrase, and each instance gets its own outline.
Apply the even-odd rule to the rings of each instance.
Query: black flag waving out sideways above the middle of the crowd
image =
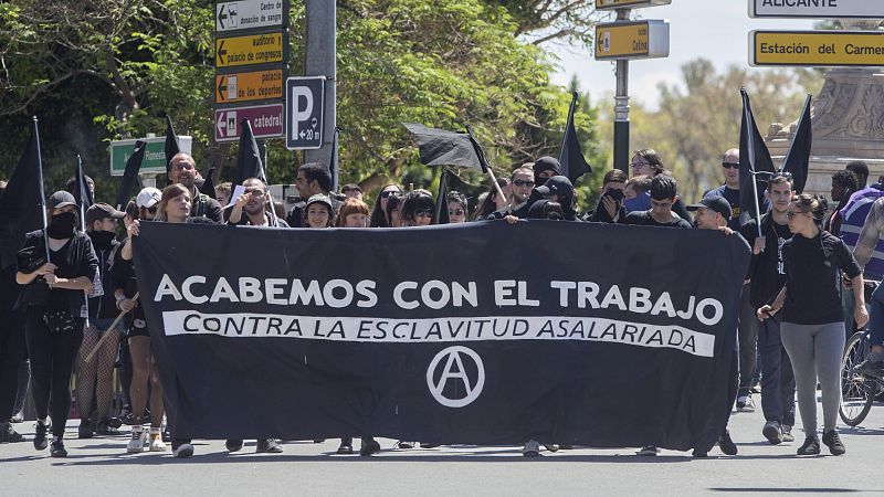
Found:
[[[474,140],[469,134],[428,128],[414,123],[406,123],[403,126],[418,140],[422,165],[460,166],[482,169],[482,172],[485,172],[486,166],[482,163]]]

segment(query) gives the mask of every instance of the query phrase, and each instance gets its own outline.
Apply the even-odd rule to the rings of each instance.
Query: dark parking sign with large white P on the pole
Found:
[[[322,148],[324,117],[325,76],[285,81],[285,148]]]

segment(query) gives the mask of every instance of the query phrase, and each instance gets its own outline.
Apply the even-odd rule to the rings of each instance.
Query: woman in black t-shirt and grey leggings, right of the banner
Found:
[[[810,194],[792,198],[787,218],[793,236],[782,245],[786,286],[770,304],[757,311],[758,319],[765,320],[782,309],[782,345],[792,360],[798,409],[807,436],[798,455],[820,453],[817,437],[818,380],[822,389],[822,442],[833,455],[845,452],[835,431],[841,402],[841,355],[844,350],[844,316],[836,287],[839,269],[844,271],[853,284],[856,324],[865,326],[869,320],[860,266],[844,242],[820,230],[824,215],[824,204]]]

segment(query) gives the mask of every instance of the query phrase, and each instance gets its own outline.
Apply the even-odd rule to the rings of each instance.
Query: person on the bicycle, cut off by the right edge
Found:
[[[884,243],[881,240],[882,233],[884,233],[884,198],[875,200],[872,204],[860,232],[860,239],[856,241],[856,248],[853,250],[854,258],[866,273],[884,274],[884,256],[880,255],[882,253],[880,248],[876,250],[877,245]],[[867,377],[884,378],[884,286],[878,285],[872,293],[869,306],[872,351],[866,360],[856,366],[855,371]]]

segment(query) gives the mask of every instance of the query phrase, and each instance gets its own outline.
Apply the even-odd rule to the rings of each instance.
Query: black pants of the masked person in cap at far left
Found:
[[[43,309],[29,308],[25,315],[25,340],[31,358],[31,392],[38,419],[52,417],[52,434],[64,435],[71,411],[71,374],[74,372],[84,320],[77,318],[73,331],[50,334],[43,322]],[[52,399],[50,401],[50,399]]]

